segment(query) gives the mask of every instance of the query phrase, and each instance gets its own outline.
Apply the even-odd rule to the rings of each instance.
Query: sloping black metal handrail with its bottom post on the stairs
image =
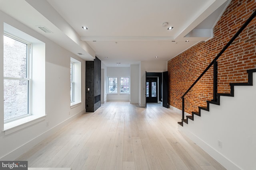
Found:
[[[218,55],[214,58],[214,60],[206,67],[206,69],[202,72],[202,74],[200,74],[200,76],[195,80],[195,82],[190,86],[190,88],[188,88],[188,90],[183,94],[183,96],[181,97],[182,98],[182,119],[184,119],[184,97],[186,96],[186,94],[194,87],[194,85],[200,80],[200,78],[202,78],[202,76],[209,70],[209,68],[212,66],[212,64],[214,64],[218,60],[218,58],[222,55],[222,53],[224,53],[226,51],[226,49],[233,43],[233,41],[236,39],[236,37],[238,37],[238,35],[254,19],[255,16],[256,16],[256,10],[254,10],[252,15],[248,18],[248,20],[242,25],[242,27],[230,39],[230,41],[228,41],[228,43],[223,47],[223,49],[220,51],[220,53],[218,53]],[[217,70],[216,70],[216,72],[217,72]],[[214,90],[215,90],[215,92],[214,92],[214,96],[215,96],[215,94],[217,94],[217,91],[216,91],[217,89],[214,88]],[[216,100],[216,99],[214,99],[214,100]]]

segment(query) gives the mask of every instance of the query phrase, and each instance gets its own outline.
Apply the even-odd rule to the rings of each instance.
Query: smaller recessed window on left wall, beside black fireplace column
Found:
[[[81,62],[70,57],[70,106],[81,103]]]

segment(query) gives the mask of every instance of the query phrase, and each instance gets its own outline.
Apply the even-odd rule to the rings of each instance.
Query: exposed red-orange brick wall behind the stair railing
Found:
[[[168,61],[169,103],[182,109],[181,96],[256,10],[255,0],[233,0],[214,27],[214,38],[198,43]],[[230,82],[247,82],[256,68],[256,18],[218,59],[218,93],[230,93]],[[198,111],[213,98],[213,66],[185,96],[185,111]]]

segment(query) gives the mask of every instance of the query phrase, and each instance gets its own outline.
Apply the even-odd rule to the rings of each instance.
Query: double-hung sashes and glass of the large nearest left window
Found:
[[[30,43],[4,35],[4,122],[30,113]]]

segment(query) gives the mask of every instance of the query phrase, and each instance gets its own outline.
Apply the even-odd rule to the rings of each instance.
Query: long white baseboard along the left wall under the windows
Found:
[[[49,129],[48,131],[45,131],[41,135],[38,135],[34,139],[28,141],[27,143],[23,144],[22,146],[18,147],[17,149],[13,150],[12,152],[6,154],[2,158],[0,158],[0,160],[16,160],[16,158],[18,158],[19,156],[21,156],[22,154],[24,154],[25,152],[30,150],[32,147],[34,147],[35,145],[37,145],[38,143],[40,143],[41,141],[43,141],[44,139],[46,139],[50,135],[53,135],[59,129],[64,127],[67,123],[69,123],[70,121],[76,119],[77,117],[82,115],[82,113],[85,113],[85,112],[86,111],[83,110],[83,111],[80,111],[79,113],[76,113],[72,117],[69,117],[68,119],[62,121],[58,125],[56,125],[56,126],[52,127],[51,129]]]

